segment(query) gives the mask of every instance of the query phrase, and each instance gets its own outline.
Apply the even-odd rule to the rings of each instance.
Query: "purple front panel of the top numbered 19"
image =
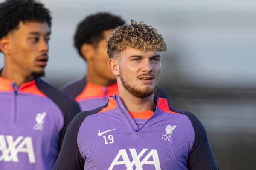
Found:
[[[84,170],[187,170],[195,133],[186,115],[157,107],[138,127],[119,97],[113,98],[115,108],[87,116],[79,127]]]

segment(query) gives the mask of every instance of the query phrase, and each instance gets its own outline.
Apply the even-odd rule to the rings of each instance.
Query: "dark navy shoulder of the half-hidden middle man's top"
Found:
[[[87,84],[87,82],[85,81],[84,78],[75,80],[75,81],[71,81],[71,82],[67,82],[67,84],[65,84],[61,88],[61,91],[69,94],[73,98],[76,98],[76,96],[78,96],[84,90],[84,87],[86,86],[86,84]]]

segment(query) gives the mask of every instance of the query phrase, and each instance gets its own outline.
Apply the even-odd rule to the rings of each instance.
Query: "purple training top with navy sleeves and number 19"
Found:
[[[55,170],[218,170],[201,122],[155,98],[150,119],[133,119],[116,95],[79,113]],[[143,120],[143,119],[142,119]]]

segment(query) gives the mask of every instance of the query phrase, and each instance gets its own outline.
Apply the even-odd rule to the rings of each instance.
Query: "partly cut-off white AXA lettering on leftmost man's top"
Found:
[[[13,136],[6,135],[5,140],[5,136],[0,135],[0,151],[2,152],[0,161],[18,162],[18,153],[24,152],[28,154],[29,163],[35,163],[35,153],[31,137],[18,136],[14,141]]]

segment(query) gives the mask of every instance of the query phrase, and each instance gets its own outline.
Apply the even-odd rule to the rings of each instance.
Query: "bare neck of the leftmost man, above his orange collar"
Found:
[[[15,71],[15,69],[12,69],[6,65],[3,67],[0,76],[12,82],[15,82],[18,87],[23,82],[29,82],[33,79],[33,76],[31,74],[22,74],[22,71]]]

